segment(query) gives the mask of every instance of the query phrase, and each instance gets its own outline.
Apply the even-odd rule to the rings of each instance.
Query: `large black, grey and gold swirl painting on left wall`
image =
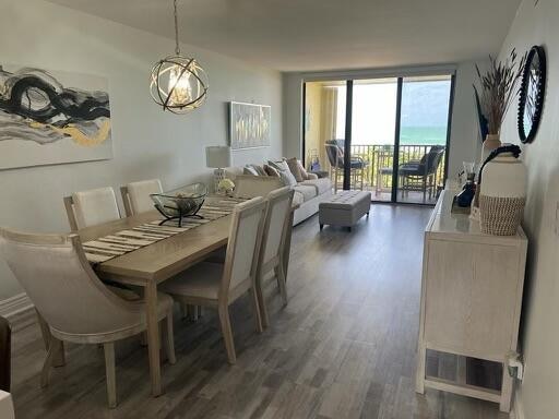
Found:
[[[0,169],[112,157],[107,79],[0,65]]]

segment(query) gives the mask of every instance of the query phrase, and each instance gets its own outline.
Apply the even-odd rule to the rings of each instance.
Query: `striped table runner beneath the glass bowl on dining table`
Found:
[[[166,222],[163,226],[159,226],[162,219],[155,219],[131,229],[86,241],[82,243],[85,258],[87,258],[91,264],[107,262],[114,258],[121,256],[122,254],[178,235],[179,232],[225,217],[233,212],[235,205],[243,201],[246,200],[224,197],[219,201],[206,202],[197,214],[203,218],[185,217],[182,218],[181,227],[178,226],[178,220],[175,219]]]

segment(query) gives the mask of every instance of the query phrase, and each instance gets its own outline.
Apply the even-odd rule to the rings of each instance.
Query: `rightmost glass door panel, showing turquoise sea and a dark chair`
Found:
[[[444,185],[452,77],[405,77],[402,85],[397,202],[435,204]]]

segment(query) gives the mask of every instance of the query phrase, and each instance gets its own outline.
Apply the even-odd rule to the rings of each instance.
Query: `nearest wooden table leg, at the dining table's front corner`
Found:
[[[145,287],[145,320],[147,323],[147,351],[150,354],[150,374],[152,379],[152,395],[163,394],[159,322],[157,321],[157,284],[150,282]]]

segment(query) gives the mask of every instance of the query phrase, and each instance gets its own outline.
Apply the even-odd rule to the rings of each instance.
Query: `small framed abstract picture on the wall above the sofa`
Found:
[[[271,141],[271,107],[230,103],[229,136],[233,149],[266,147]]]

